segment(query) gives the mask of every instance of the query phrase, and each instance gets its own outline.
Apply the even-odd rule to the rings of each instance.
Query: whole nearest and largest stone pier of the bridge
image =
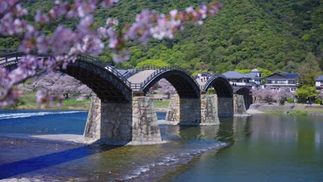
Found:
[[[93,97],[84,136],[113,145],[161,143],[155,105],[147,97],[133,97],[131,103],[104,103]]]

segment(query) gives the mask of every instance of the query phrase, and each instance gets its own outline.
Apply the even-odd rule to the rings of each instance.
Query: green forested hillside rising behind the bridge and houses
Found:
[[[166,13],[175,8],[184,10],[202,2],[204,1],[121,0],[113,8],[97,10],[95,26],[103,25],[108,17],[116,17],[121,21],[121,26],[124,26],[133,22],[135,14],[144,8]],[[225,72],[256,67],[298,72],[306,62],[309,71],[313,68],[317,74],[322,72],[322,1],[220,2],[223,8],[219,15],[208,19],[204,25],[187,23],[186,30],[178,32],[175,39],[152,40],[147,45],[137,45],[132,48],[131,60],[117,67],[130,68],[153,63],[179,65],[192,72]],[[35,13],[38,8],[48,10],[53,1],[29,0],[25,5],[30,12]],[[30,15],[28,20],[32,19]],[[46,25],[48,34],[58,23],[61,21]],[[75,23],[69,21],[64,24],[72,27]],[[17,47],[18,42],[19,38],[0,38],[0,48]],[[101,58],[112,63],[108,50]]]

